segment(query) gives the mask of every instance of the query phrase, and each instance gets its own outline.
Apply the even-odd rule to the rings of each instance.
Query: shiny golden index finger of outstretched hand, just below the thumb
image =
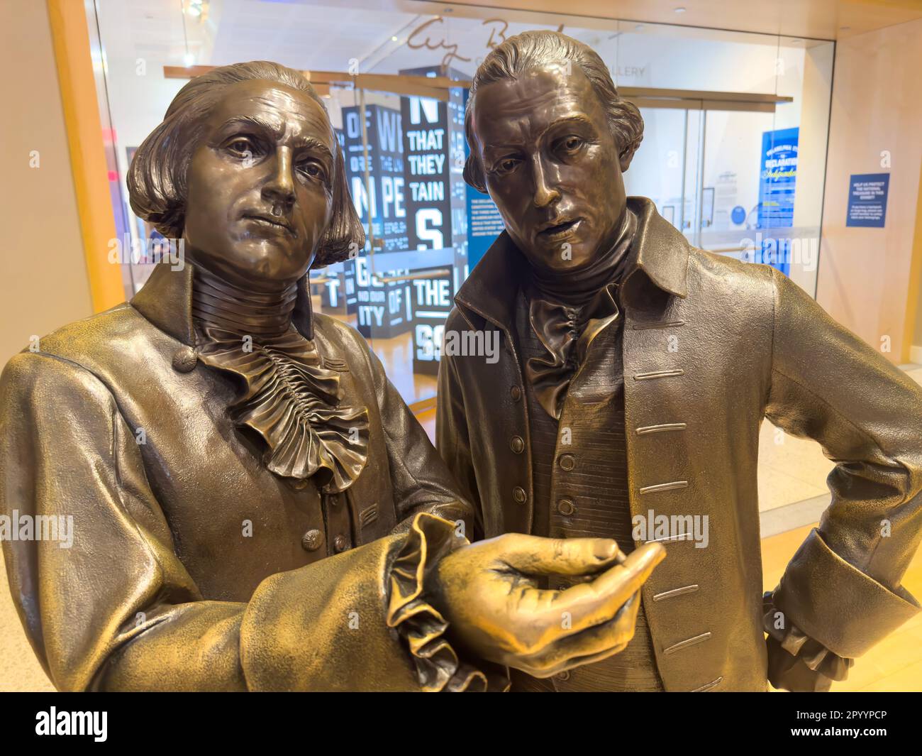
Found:
[[[661,544],[646,544],[599,575],[594,581],[565,591],[519,587],[516,608],[532,629],[526,648],[539,649],[595,625],[608,622],[637,593],[650,573],[666,557]]]

